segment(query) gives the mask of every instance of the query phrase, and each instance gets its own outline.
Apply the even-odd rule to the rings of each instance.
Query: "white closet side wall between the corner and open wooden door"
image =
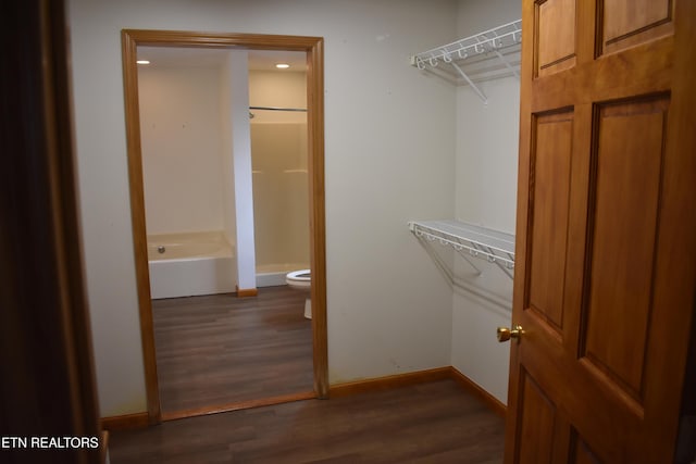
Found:
[[[458,37],[520,17],[519,0],[461,0]],[[469,86],[457,88],[455,215],[514,234],[520,83],[507,77],[482,83],[481,88],[487,104]],[[495,334],[497,326],[510,325],[512,279],[483,260],[475,260],[478,276],[461,260],[457,264],[469,290],[455,291],[452,365],[507,403],[510,346],[498,343]]]

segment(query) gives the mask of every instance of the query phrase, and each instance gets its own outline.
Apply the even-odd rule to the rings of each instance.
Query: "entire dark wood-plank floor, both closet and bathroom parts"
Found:
[[[312,389],[304,293],[153,301],[163,417]],[[186,415],[186,414],[183,414]],[[499,463],[504,421],[453,380],[113,431],[111,463]]]

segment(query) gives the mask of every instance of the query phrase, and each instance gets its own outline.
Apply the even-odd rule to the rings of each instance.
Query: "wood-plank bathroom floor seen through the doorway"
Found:
[[[312,328],[306,293],[264,287],[152,301],[164,418],[184,411],[313,389]]]

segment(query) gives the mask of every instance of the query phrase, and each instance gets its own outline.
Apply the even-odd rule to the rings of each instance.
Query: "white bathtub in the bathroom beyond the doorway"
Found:
[[[236,291],[234,248],[222,231],[148,235],[153,299]]]

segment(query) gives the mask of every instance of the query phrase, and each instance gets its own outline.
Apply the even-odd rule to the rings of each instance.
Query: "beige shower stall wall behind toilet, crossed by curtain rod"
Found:
[[[249,104],[307,108],[306,73],[250,71]],[[251,112],[257,269],[307,268],[310,255],[307,113]]]

